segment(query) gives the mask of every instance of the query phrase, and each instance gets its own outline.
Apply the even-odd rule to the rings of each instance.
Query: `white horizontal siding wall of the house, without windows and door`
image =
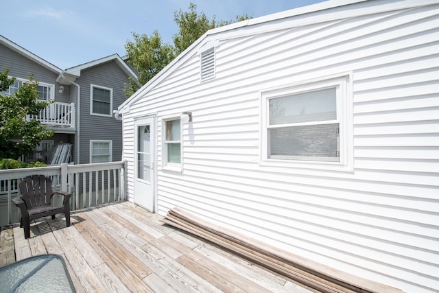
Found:
[[[189,52],[124,115],[128,194],[134,117],[156,113],[158,213],[182,207],[333,268],[431,292],[439,288],[439,5],[357,17],[349,8],[334,10],[346,19],[218,34],[216,78],[207,82],[196,48]],[[353,168],[260,165],[260,91],[334,73],[353,78]],[[183,124],[183,170],[169,172],[161,121],[183,111],[193,115]]]

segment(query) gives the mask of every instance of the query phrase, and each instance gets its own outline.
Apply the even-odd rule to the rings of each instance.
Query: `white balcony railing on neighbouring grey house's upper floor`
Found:
[[[75,104],[54,102],[41,110],[39,115],[29,115],[28,119],[38,119],[47,126],[74,128]]]

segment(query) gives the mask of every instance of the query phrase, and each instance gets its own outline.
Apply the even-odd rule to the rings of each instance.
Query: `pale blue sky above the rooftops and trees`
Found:
[[[67,69],[111,54],[125,55],[132,32],[158,30],[172,43],[174,12],[197,5],[209,19],[258,17],[322,0],[21,0],[3,3],[0,34],[52,64]],[[8,8],[7,5],[10,5]]]

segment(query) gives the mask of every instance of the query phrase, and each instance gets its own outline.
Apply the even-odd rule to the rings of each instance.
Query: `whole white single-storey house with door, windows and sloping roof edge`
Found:
[[[129,200],[438,290],[438,15],[327,1],[206,32],[119,107]]]

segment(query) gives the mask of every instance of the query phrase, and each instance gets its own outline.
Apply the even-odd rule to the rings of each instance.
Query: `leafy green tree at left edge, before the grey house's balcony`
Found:
[[[8,78],[8,69],[0,73],[0,92],[7,91],[15,78]],[[0,159],[18,159],[30,154],[41,140],[52,137],[53,130],[46,130],[36,119],[26,119],[27,115],[38,115],[49,102],[38,101],[38,82],[24,82],[16,93],[0,94]],[[12,139],[22,139],[16,143]]]

